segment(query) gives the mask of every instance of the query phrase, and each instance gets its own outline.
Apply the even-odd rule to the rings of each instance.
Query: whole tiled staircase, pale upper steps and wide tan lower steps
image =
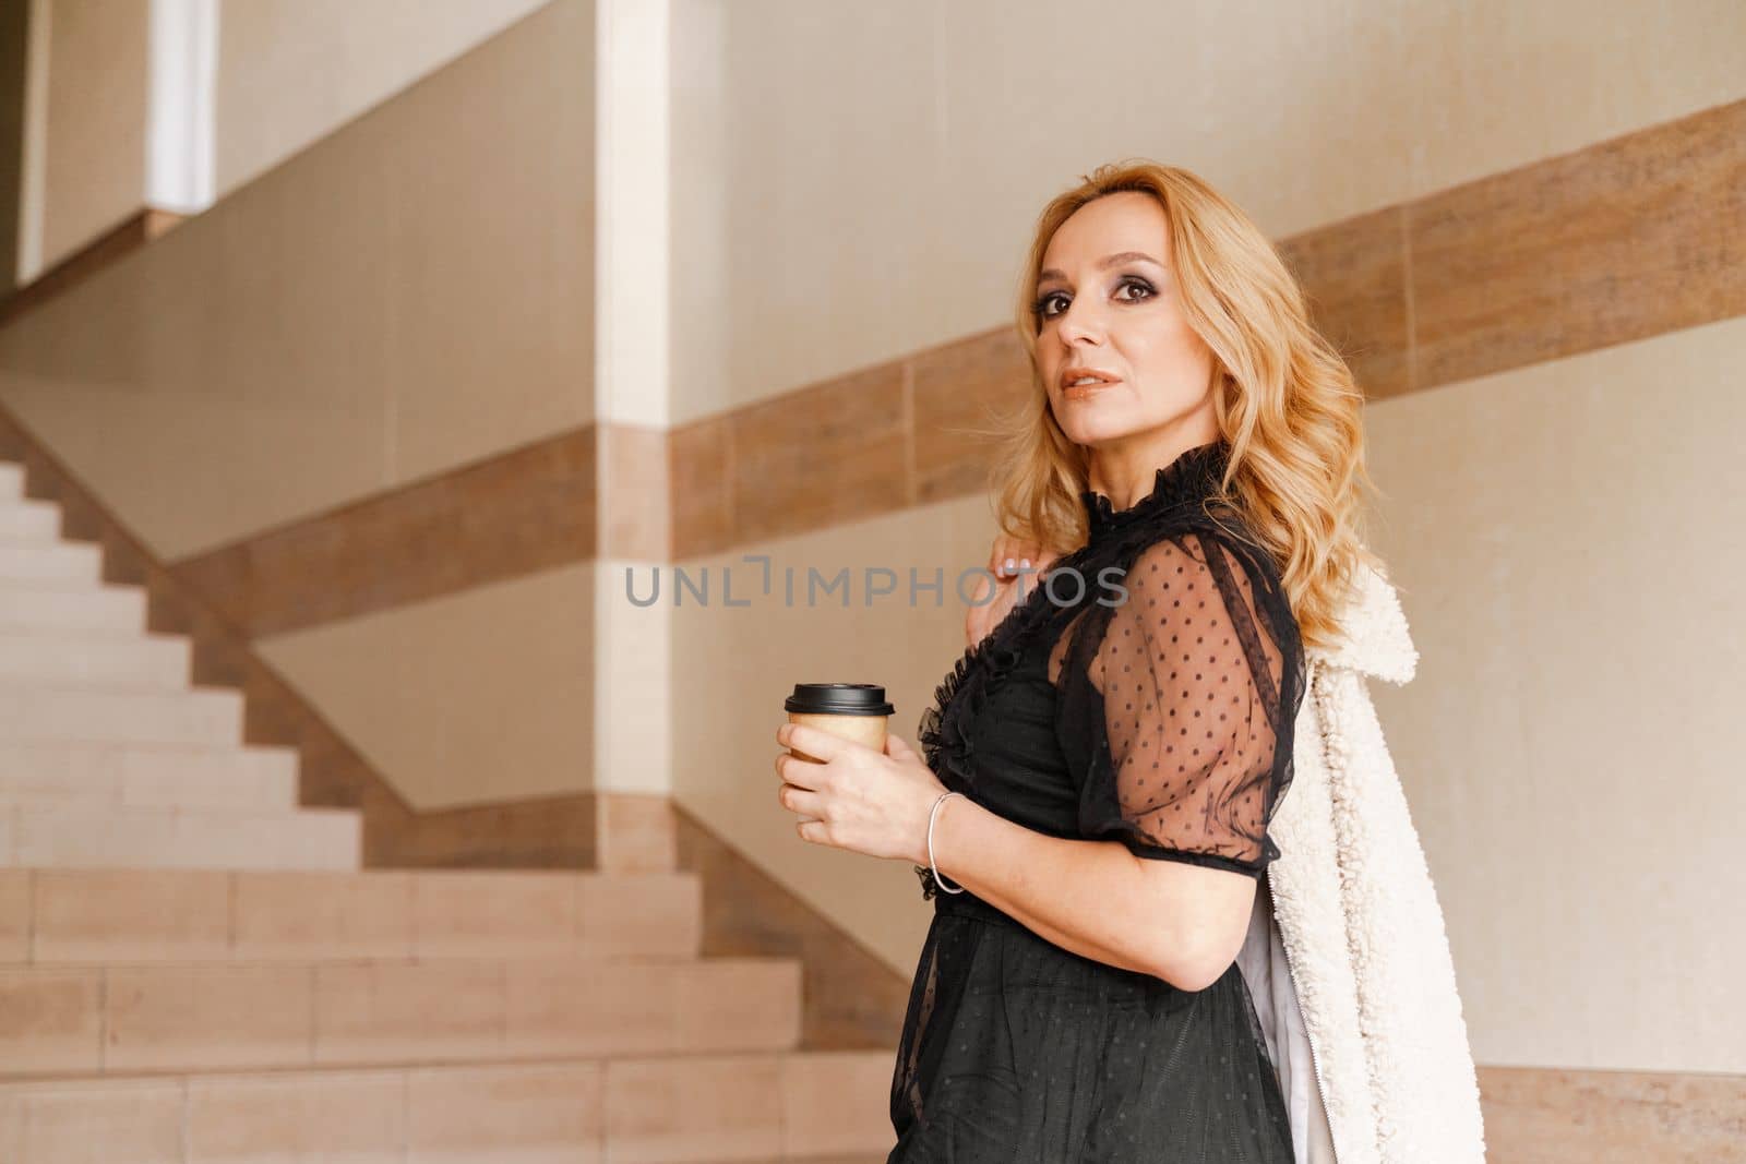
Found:
[[[0,462],[0,1161],[885,1159],[892,1052],[800,1051],[695,874],[360,869],[59,529]]]

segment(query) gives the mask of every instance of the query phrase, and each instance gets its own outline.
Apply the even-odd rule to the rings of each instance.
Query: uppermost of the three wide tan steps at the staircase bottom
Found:
[[[693,873],[0,869],[0,963],[695,960]]]

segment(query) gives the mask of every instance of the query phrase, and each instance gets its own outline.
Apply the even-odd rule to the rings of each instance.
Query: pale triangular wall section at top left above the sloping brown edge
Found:
[[[218,197],[546,0],[220,0]]]

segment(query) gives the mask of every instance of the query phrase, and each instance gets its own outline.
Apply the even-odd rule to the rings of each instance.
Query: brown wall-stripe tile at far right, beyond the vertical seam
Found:
[[[1746,101],[1407,206],[1413,387],[1746,312]]]

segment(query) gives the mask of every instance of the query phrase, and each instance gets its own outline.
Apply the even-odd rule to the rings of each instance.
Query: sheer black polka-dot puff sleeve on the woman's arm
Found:
[[[1180,532],[1119,581],[1072,639],[1058,702],[1081,834],[1259,876],[1303,686],[1276,574],[1252,546]]]

